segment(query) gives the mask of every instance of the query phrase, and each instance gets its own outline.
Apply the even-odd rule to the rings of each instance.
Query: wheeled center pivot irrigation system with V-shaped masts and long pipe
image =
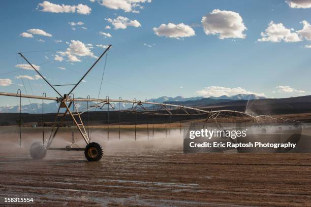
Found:
[[[41,99],[41,100],[54,100],[57,101],[59,104],[57,114],[55,116],[54,124],[51,129],[50,136],[48,139],[46,139],[46,142],[42,144],[41,142],[35,142],[30,146],[30,156],[32,156],[33,159],[43,159],[46,155],[47,150],[75,150],[75,151],[84,151],[84,155],[87,160],[89,161],[99,161],[103,157],[103,148],[100,144],[95,142],[90,142],[90,137],[87,133],[87,130],[85,129],[85,126],[83,124],[83,121],[81,119],[81,114],[84,112],[87,112],[91,110],[92,108],[100,108],[103,109],[105,105],[111,107],[111,109],[114,109],[113,105],[111,103],[131,103],[132,109],[129,110],[121,110],[122,112],[130,112],[130,113],[142,113],[146,115],[163,115],[163,116],[196,116],[196,115],[206,115],[206,120],[212,119],[216,124],[216,118],[217,117],[234,117],[234,118],[248,118],[255,121],[258,121],[259,119],[272,119],[277,121],[277,118],[272,118],[270,116],[252,116],[247,113],[238,112],[238,111],[231,111],[231,110],[221,110],[221,111],[206,111],[202,109],[197,109],[194,107],[186,107],[181,105],[172,105],[168,103],[158,103],[158,102],[148,102],[136,100],[122,100],[122,99],[101,99],[101,98],[74,98],[73,97],[73,91],[74,89],[82,82],[83,78],[92,70],[92,68],[98,63],[98,61],[107,53],[107,51],[111,48],[111,45],[107,47],[107,49],[102,53],[101,56],[92,64],[92,66],[88,69],[88,71],[83,75],[83,77],[78,81],[77,84],[73,84],[74,86],[69,93],[61,95],[56,89],[55,86],[68,86],[68,84],[64,85],[51,85],[44,76],[42,76],[38,70],[35,68],[35,66],[30,63],[22,53],[18,53],[40,76],[41,78],[59,95],[59,97],[45,97],[45,96],[36,96],[36,95],[27,95],[27,94],[21,94],[21,93],[6,93],[6,92],[0,92],[0,95],[3,96],[14,96],[14,97],[20,97],[20,98],[34,98],[34,99]],[[80,111],[77,107],[78,102],[90,102],[94,101],[97,102],[96,105],[90,106],[90,109],[87,108],[87,110]],[[148,109],[149,106],[149,109]],[[151,107],[150,107],[151,106]],[[72,110],[71,110],[72,107]],[[154,110],[154,107],[157,109]],[[61,113],[60,109],[65,108],[65,112]],[[151,108],[151,110],[150,110]],[[120,109],[119,109],[120,112]],[[50,147],[54,137],[57,134],[57,131],[61,124],[64,122],[65,117],[70,116],[73,120],[73,123],[76,125],[78,131],[83,137],[83,140],[86,143],[85,148],[72,148],[71,146],[67,146],[65,148],[52,148]],[[60,120],[58,118],[60,117]],[[21,122],[21,121],[20,121]]]

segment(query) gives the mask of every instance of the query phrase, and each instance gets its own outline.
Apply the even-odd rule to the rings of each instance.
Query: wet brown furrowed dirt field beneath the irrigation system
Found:
[[[100,162],[63,151],[34,161],[30,136],[22,149],[4,142],[0,206],[311,206],[311,154],[183,154],[180,136],[142,137],[102,142]]]

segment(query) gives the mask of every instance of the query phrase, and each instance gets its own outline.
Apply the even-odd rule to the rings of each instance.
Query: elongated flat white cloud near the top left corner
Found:
[[[38,8],[42,8],[42,12],[52,12],[52,13],[75,13],[78,14],[90,14],[91,8],[89,8],[87,5],[58,5],[53,4],[48,1],[44,1],[43,3],[38,4]]]

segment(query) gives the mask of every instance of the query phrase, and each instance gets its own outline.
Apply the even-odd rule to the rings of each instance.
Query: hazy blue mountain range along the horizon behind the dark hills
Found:
[[[149,102],[154,101],[154,102],[160,102],[160,103],[163,103],[163,102],[173,103],[176,105],[179,105],[179,103],[182,103],[182,105],[200,106],[200,105],[216,103],[216,102],[219,102],[220,100],[233,101],[233,100],[255,100],[255,99],[265,99],[265,97],[258,96],[255,94],[237,94],[237,95],[232,95],[232,96],[223,95],[220,97],[210,96],[208,98],[203,97],[203,96],[196,96],[196,97],[189,97],[189,98],[185,98],[182,96],[176,96],[176,97],[162,96],[159,98],[148,99],[148,101]],[[112,103],[112,104],[115,109],[118,109],[118,103]],[[89,106],[91,105],[96,105],[96,102],[89,102]],[[50,103],[44,103],[43,107],[44,107],[44,113],[55,113],[57,112],[57,109],[58,109],[58,103],[56,103],[55,101],[50,102]],[[84,108],[86,106],[80,106],[80,108],[81,107]],[[131,103],[120,104],[120,110],[129,109],[131,107],[132,107]],[[29,113],[29,114],[42,113],[42,103],[29,103],[28,105],[23,105],[21,108],[22,108],[21,110],[22,113]],[[0,113],[18,113],[18,112],[19,112],[19,106],[0,107]]]

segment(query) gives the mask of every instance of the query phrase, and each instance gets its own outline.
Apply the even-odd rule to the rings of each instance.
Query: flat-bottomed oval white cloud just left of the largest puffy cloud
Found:
[[[185,25],[183,23],[180,24],[161,24],[158,28],[153,27],[153,31],[157,36],[164,36],[168,38],[185,38],[195,36],[196,33],[189,25]]]

